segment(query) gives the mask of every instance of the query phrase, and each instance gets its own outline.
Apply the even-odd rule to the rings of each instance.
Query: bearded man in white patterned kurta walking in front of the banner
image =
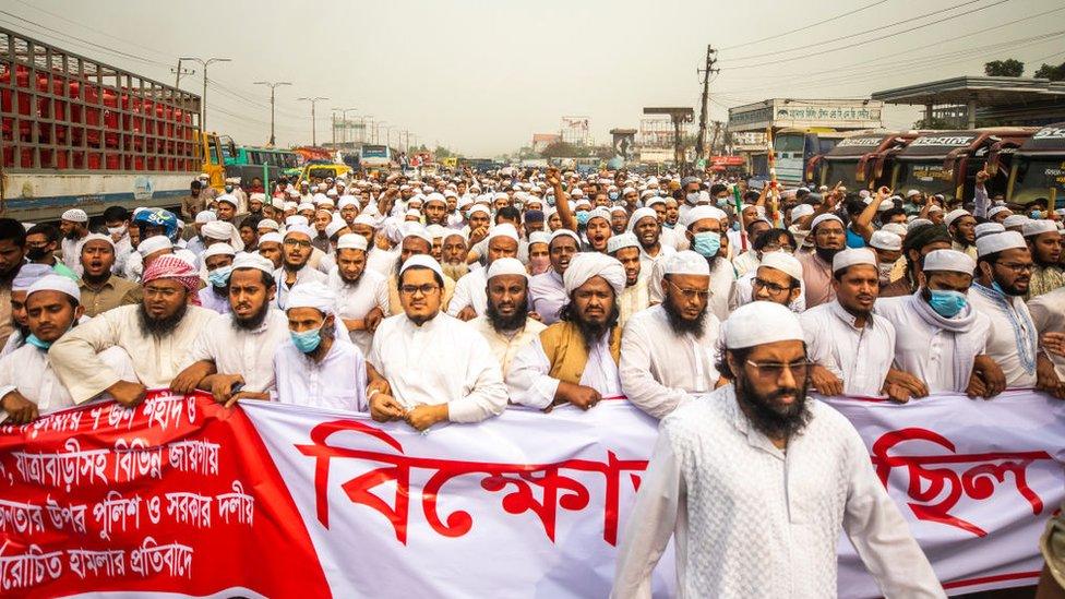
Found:
[[[611,597],[649,598],[672,536],[680,595],[835,597],[841,530],[885,596],[944,597],[854,427],[806,398],[798,318],[756,301],[722,328],[733,382],[662,420]]]

